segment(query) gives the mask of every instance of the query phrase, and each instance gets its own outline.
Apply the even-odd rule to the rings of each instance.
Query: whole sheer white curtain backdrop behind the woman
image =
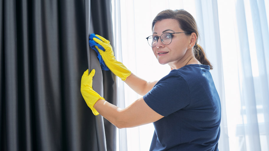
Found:
[[[269,151],[268,0],[112,0],[112,6],[116,57],[147,81],[170,72],[145,39],[153,18],[164,9],[190,12],[222,103],[219,150]],[[142,97],[120,79],[118,86],[120,107]],[[153,131],[152,124],[119,130],[117,150],[149,150]]]

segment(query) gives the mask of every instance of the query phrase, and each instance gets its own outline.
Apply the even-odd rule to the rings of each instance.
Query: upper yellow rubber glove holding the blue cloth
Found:
[[[97,38],[93,38],[95,42],[100,44],[105,49],[105,51],[103,51],[97,46],[95,46],[96,49],[99,51],[100,55],[102,56],[106,66],[110,69],[111,72],[113,72],[116,76],[120,77],[123,81],[126,80],[126,78],[131,75],[131,71],[128,70],[121,62],[118,62],[115,59],[110,42],[102,36],[96,36],[102,40],[101,41]]]

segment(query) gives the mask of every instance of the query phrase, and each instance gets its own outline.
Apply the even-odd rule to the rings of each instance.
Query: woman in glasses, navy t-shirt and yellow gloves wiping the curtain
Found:
[[[197,44],[198,30],[185,10],[161,11],[152,21],[146,39],[160,64],[171,72],[159,81],[146,82],[117,62],[109,41],[94,39],[107,67],[143,97],[125,109],[105,101],[92,89],[92,77],[84,72],[81,93],[95,115],[99,113],[118,128],[152,123],[150,150],[216,151],[220,135],[221,106],[209,72],[213,69]],[[97,47],[98,48],[98,47]]]

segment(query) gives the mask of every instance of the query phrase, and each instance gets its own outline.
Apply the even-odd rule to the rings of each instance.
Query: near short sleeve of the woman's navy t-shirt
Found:
[[[151,109],[166,117],[190,103],[190,92],[182,77],[172,75],[157,82],[143,99]]]

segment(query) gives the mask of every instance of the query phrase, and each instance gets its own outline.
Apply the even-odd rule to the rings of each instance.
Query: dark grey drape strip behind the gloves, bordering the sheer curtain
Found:
[[[111,12],[111,1],[91,1],[91,21],[93,24],[94,33],[109,40],[112,48],[114,48]],[[117,105],[117,87],[115,83],[116,77],[110,70],[102,70],[102,72],[104,98],[109,103]],[[116,127],[112,125],[108,120],[104,119],[104,128],[107,150],[116,150]]]

